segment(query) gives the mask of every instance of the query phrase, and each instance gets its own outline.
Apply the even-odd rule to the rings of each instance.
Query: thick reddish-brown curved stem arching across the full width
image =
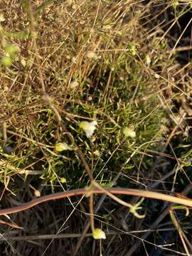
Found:
[[[1,209],[0,215],[18,213],[20,211],[27,210],[29,208],[32,208],[33,206],[36,206],[46,201],[58,200],[61,198],[66,198],[71,196],[80,196],[84,194],[89,195],[90,193],[98,193],[98,194],[111,193],[111,194],[122,194],[122,195],[129,195],[129,196],[140,196],[140,197],[153,198],[161,201],[167,201],[170,203],[176,203],[179,205],[192,207],[191,198],[188,198],[188,199],[178,198],[176,196],[169,196],[164,193],[158,193],[154,191],[145,191],[145,190],[139,190],[139,189],[133,189],[133,188],[105,188],[105,189],[104,188],[90,188],[90,189],[80,188],[80,189],[74,189],[66,192],[63,191],[63,192],[53,193],[48,196],[41,196],[40,198],[36,198],[31,201],[28,201],[27,203],[23,203],[20,206]]]

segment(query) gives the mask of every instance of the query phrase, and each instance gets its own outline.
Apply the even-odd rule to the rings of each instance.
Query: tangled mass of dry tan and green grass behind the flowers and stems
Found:
[[[2,207],[87,186],[73,140],[102,186],[181,193],[191,183],[189,1],[1,1],[0,11]],[[94,119],[87,139],[80,122]],[[124,137],[124,127],[136,137]],[[73,150],[55,151],[58,142]],[[170,238],[176,233],[166,203],[145,201],[139,220],[95,196],[95,226],[112,234],[100,242],[86,235],[88,205],[75,198],[11,215],[24,229],[1,229],[9,238],[2,255],[137,255],[154,253],[154,244],[164,255],[190,253],[187,242]],[[176,213],[184,230],[191,218]],[[150,228],[153,235],[139,235]],[[85,239],[73,235],[83,230]],[[71,238],[55,239],[61,232]],[[28,235],[53,236],[22,240]],[[143,247],[133,249],[141,238]],[[173,245],[160,248],[163,240]]]

